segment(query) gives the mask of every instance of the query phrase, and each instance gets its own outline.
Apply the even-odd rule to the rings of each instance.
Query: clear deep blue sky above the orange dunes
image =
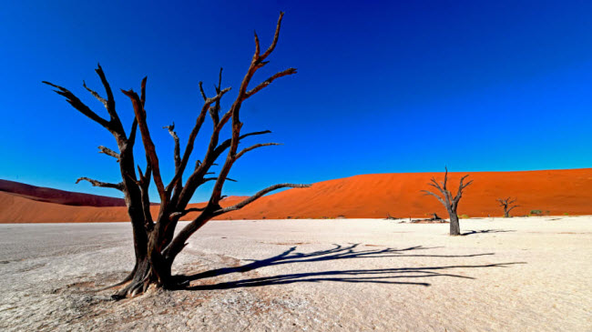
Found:
[[[592,166],[589,1],[5,1],[0,178],[117,196],[74,185],[78,176],[118,181],[117,163],[97,153],[114,139],[41,84],[66,86],[105,115],[82,87],[101,91],[100,62],[117,89],[138,90],[148,75],[148,125],[169,179],[172,140],[161,126],[175,121],[186,142],[199,80],[211,94],[223,66],[223,86],[236,90],[253,30],[268,45],[281,10],[280,43],[253,82],[290,66],[298,74],[251,98],[241,116],[245,131],[270,129],[260,138],[284,146],[240,160],[225,194],[444,165]],[[129,126],[130,103],[116,98]]]

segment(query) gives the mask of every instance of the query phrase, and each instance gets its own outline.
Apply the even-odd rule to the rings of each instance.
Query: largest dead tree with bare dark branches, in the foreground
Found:
[[[275,35],[271,45],[267,50],[261,53],[259,37],[255,34],[255,54],[253,55],[247,74],[240,83],[238,96],[230,106],[230,109],[221,114],[220,113],[220,99],[230,91],[230,87],[222,88],[222,69],[219,72],[218,85],[215,87],[215,96],[206,96],[206,93],[199,82],[199,90],[203,96],[204,104],[201,107],[197,116],[195,126],[189,134],[187,145],[181,154],[179,136],[174,131],[175,126],[167,126],[168,132],[174,140],[174,162],[175,173],[168,184],[160,176],[160,166],[156,147],[150,131],[148,130],[146,104],[146,80],[145,77],[141,81],[140,94],[134,90],[121,90],[125,96],[128,96],[134,109],[135,118],[132,125],[127,132],[121,123],[116,111],[115,99],[111,87],[107,82],[107,78],[100,65],[97,67],[97,75],[99,76],[102,85],[105,87],[106,96],[100,96],[96,91],[89,88],[86,84],[83,86],[87,91],[95,96],[105,108],[107,108],[108,119],[98,116],[72,92],[63,86],[45,82],[49,86],[56,88],[56,93],[65,96],[66,101],[71,106],[77,109],[83,115],[89,117],[97,122],[100,126],[105,127],[117,141],[118,152],[111,150],[105,146],[99,146],[100,152],[107,156],[112,156],[117,159],[119,163],[119,171],[121,173],[121,182],[119,183],[105,183],[97,181],[88,177],[81,177],[77,182],[85,180],[93,186],[102,186],[117,189],[123,192],[128,206],[128,215],[131,219],[133,228],[134,248],[136,253],[136,265],[121,283],[117,286],[121,287],[114,295],[116,298],[130,297],[141,294],[151,285],[157,287],[173,288],[178,285],[175,284],[174,278],[171,277],[171,266],[175,257],[187,245],[189,236],[194,234],[201,226],[204,226],[210,219],[216,216],[223,215],[230,211],[235,211],[243,206],[247,206],[256,199],[260,198],[273,190],[286,187],[306,187],[307,185],[293,185],[280,184],[267,187],[257,194],[241,201],[234,206],[220,206],[222,199],[222,188],[226,181],[230,181],[230,168],[244,156],[246,153],[259,148],[261,146],[274,146],[275,143],[255,144],[253,146],[239,149],[240,143],[243,139],[249,136],[260,136],[269,134],[269,130],[241,133],[242,123],[240,122],[240,106],[242,103],[257,94],[261,89],[269,86],[277,78],[296,73],[295,68],[288,68],[275,75],[271,75],[259,85],[249,88],[250,81],[253,75],[262,66],[267,65],[268,56],[273,52],[278,43],[281,28],[281,13],[276,26]],[[200,159],[195,167],[189,167],[189,157],[193,152],[193,145],[199,131],[204,124],[207,117],[212,121],[212,133],[209,138],[209,146],[205,156]],[[231,137],[220,142],[219,135],[222,128],[227,124],[230,126]],[[228,127],[228,126],[227,126]],[[138,173],[136,172],[136,161],[134,159],[134,145],[137,141],[137,136],[141,139],[143,145],[147,166],[144,171],[138,166]],[[211,176],[211,166],[218,165],[216,161],[225,155],[225,160],[220,162],[222,165],[219,169],[218,176]],[[183,177],[189,168],[189,176],[187,176],[183,183]],[[150,182],[154,181],[158,190],[160,198],[160,206],[158,216],[152,216],[150,212],[150,201],[148,196],[148,186]],[[201,208],[189,208],[189,199],[195,193],[196,189],[209,181],[214,182],[209,202],[206,206]],[[178,226],[179,219],[187,216],[190,212],[198,211],[199,215],[194,218],[189,225],[183,227],[177,235],[175,235],[175,228]]]

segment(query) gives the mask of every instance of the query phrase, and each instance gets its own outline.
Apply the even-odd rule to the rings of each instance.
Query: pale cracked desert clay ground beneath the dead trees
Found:
[[[467,196],[468,197],[468,196]],[[592,217],[212,221],[192,290],[113,302],[127,223],[0,225],[0,330],[590,331]]]

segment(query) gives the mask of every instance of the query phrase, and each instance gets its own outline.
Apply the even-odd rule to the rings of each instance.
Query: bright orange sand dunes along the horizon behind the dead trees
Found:
[[[515,216],[527,215],[535,209],[548,211],[550,215],[592,214],[592,168],[450,173],[449,186],[453,194],[458,179],[464,174],[470,174],[469,179],[475,182],[465,189],[458,208],[459,215],[501,216],[502,209],[495,198],[503,196],[518,198],[520,207],[512,211]],[[387,213],[398,217],[422,217],[434,212],[445,217],[444,206],[434,197],[420,192],[422,189],[434,189],[427,186],[432,176],[441,180],[443,173],[374,174],[323,181],[310,188],[291,189],[262,197],[222,218],[354,218],[384,217]],[[222,205],[233,205],[241,199],[244,197],[231,196]],[[156,216],[158,206],[152,206],[152,211]],[[65,206],[0,192],[0,223],[126,220],[126,208],[122,206]]]

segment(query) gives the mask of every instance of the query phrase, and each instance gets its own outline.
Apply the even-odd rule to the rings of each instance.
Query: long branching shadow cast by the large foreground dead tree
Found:
[[[321,272],[303,272],[294,274],[277,275],[270,277],[254,277],[242,280],[219,282],[211,284],[205,282],[201,285],[189,286],[191,281],[206,279],[209,277],[219,277],[231,273],[245,273],[256,270],[261,267],[272,267],[282,264],[298,264],[322,262],[352,258],[382,258],[382,257],[481,257],[492,256],[494,253],[472,254],[472,255],[426,255],[415,254],[416,251],[434,249],[434,247],[411,246],[403,249],[385,248],[385,249],[362,249],[357,250],[360,244],[351,244],[349,246],[333,245],[328,250],[320,250],[311,253],[295,252],[296,246],[284,251],[278,256],[252,260],[252,263],[240,267],[223,267],[200,272],[190,276],[176,276],[176,282],[179,287],[189,290],[205,289],[229,289],[239,287],[260,287],[268,285],[286,285],[292,283],[316,283],[316,282],[345,282],[345,283],[373,283],[373,284],[393,284],[393,285],[416,285],[428,287],[431,284],[423,281],[395,281],[393,279],[425,278],[425,277],[458,277],[464,279],[474,279],[459,274],[449,272],[461,268],[480,268],[480,267],[508,267],[515,264],[526,264],[525,262],[495,263],[485,265],[450,265],[442,267],[396,267],[396,268],[376,268],[376,269],[345,269],[330,270]]]

